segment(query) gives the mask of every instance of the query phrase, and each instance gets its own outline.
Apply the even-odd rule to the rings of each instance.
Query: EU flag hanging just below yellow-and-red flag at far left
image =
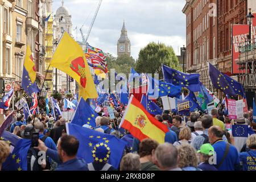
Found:
[[[23,67],[23,73],[22,73],[22,88],[29,96],[31,96],[32,93],[34,92],[35,93],[40,92],[40,89],[38,88],[38,85],[36,85],[36,82],[32,84],[32,81],[28,76],[28,72],[25,67]]]

